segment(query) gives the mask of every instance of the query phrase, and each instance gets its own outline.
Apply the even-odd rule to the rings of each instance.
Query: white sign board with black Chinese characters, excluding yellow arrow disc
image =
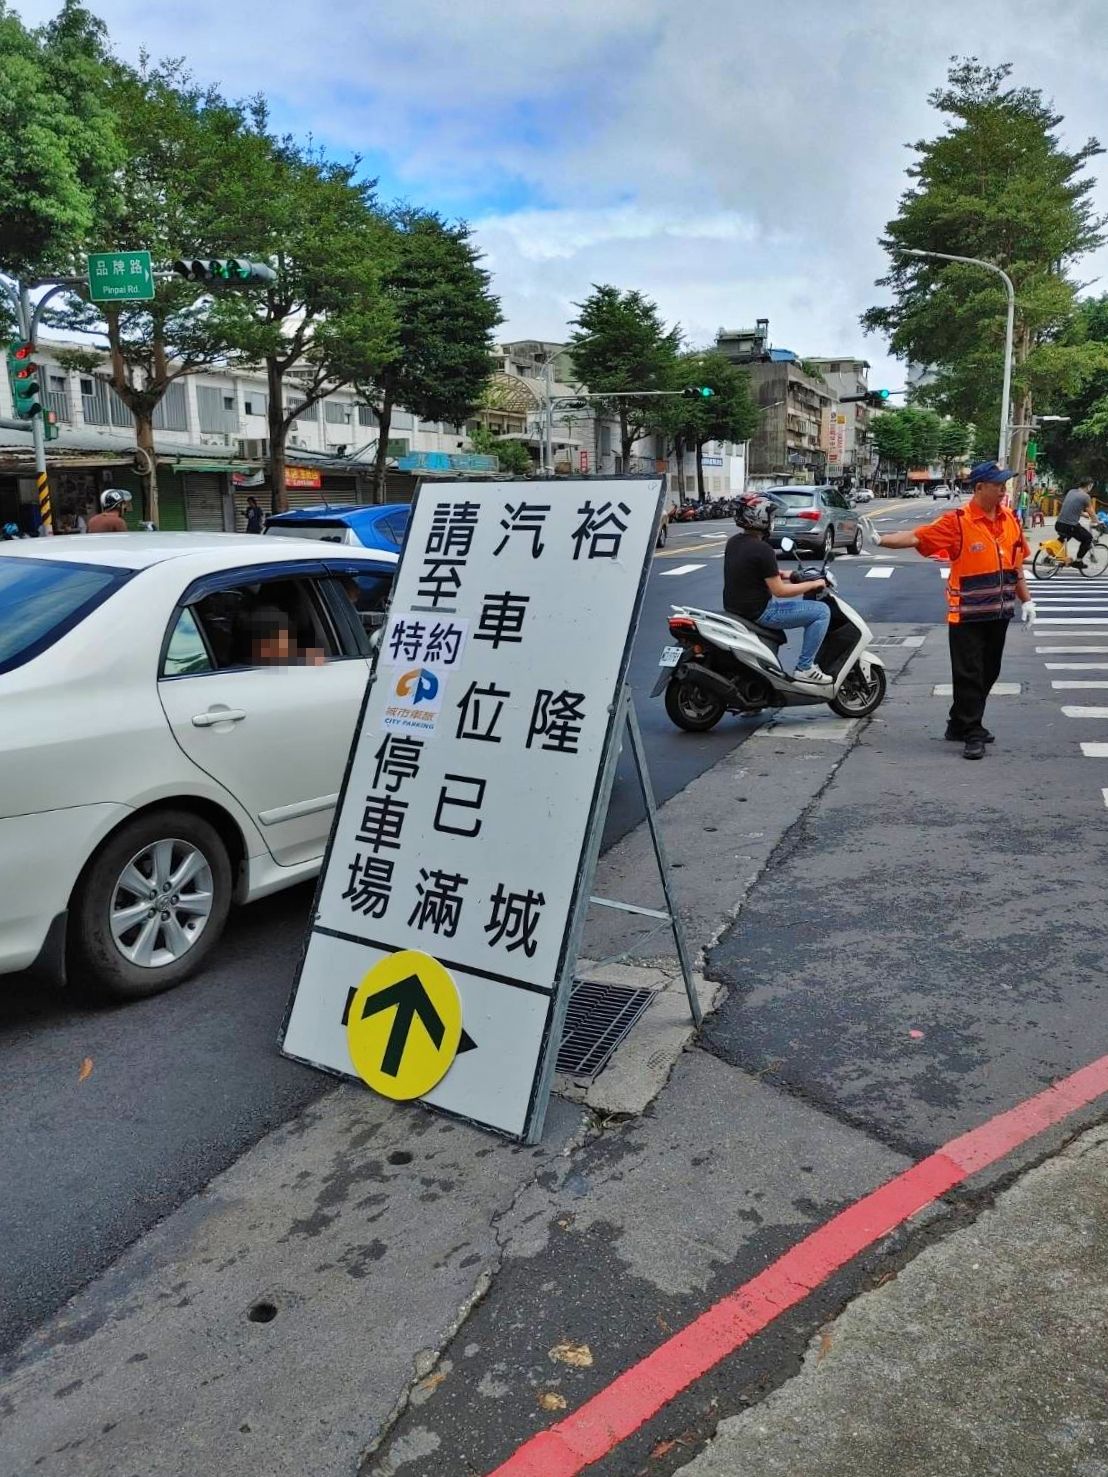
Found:
[[[541,1131],[662,489],[660,477],[421,489],[288,1056],[355,1075],[353,991],[390,953],[417,950],[449,970],[462,1006],[458,1056],[423,1100],[532,1142]]]

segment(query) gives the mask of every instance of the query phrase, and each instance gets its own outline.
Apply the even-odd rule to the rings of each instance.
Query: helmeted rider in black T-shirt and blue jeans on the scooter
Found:
[[[804,628],[804,644],[793,678],[814,687],[829,687],[832,678],[815,666],[815,653],[827,635],[830,609],[821,600],[802,598],[827,585],[823,579],[805,579],[793,585],[780,573],[767,542],[776,511],[773,499],[756,493],[746,493],[739,499],[734,514],[739,533],[727,541],[724,554],[724,610],[773,631]]]

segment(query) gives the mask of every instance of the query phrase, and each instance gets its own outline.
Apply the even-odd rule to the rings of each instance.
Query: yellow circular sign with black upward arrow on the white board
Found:
[[[380,960],[346,1018],[355,1071],[384,1097],[423,1097],[446,1075],[461,1040],[461,1000],[451,973],[418,950]]]

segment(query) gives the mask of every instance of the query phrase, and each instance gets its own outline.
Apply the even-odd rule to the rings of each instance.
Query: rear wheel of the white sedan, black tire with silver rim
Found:
[[[179,891],[170,892],[174,879]],[[146,898],[142,880],[151,889]],[[170,808],[136,817],[100,846],[74,892],[71,985],[98,1000],[143,1000],[171,990],[219,944],[230,892],[230,858],[214,826]],[[152,905],[140,916],[145,904]]]

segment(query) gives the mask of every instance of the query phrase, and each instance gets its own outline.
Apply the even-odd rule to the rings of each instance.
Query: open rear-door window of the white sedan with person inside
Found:
[[[319,666],[343,656],[315,580],[244,579],[195,600],[189,610],[211,651],[211,671]]]

